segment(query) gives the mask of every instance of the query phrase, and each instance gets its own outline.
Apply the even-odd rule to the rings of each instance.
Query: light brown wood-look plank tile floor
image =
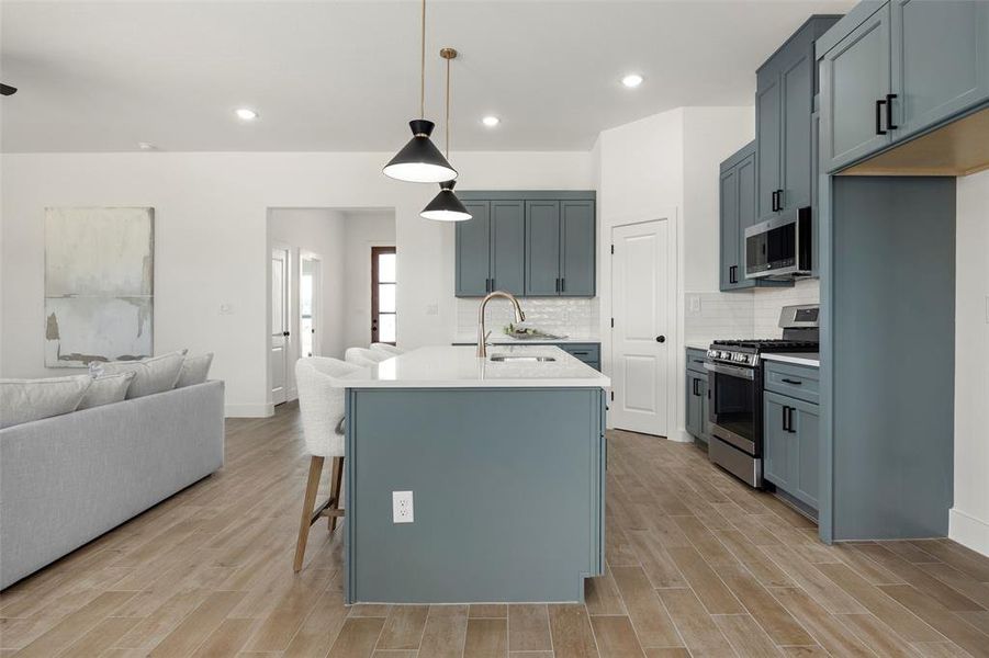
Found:
[[[585,605],[348,609],[340,533],[314,525],[292,572],[297,409],[229,421],[221,473],[0,594],[0,656],[989,656],[989,559],[829,547],[693,446],[609,445],[608,570]]]

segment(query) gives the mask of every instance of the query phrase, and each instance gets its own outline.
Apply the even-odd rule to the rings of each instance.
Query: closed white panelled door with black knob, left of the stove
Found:
[[[611,424],[667,435],[668,222],[611,230]]]

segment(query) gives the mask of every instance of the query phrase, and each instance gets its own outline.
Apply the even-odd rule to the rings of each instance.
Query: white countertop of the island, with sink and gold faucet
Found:
[[[611,381],[552,345],[419,348],[344,377],[347,388],[607,388]],[[549,356],[553,361],[495,362],[498,354]]]

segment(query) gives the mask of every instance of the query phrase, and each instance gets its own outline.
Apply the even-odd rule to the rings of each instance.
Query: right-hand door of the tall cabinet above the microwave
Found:
[[[813,47],[795,44],[779,73],[783,161],[779,206],[784,211],[810,205],[811,114],[813,113]]]

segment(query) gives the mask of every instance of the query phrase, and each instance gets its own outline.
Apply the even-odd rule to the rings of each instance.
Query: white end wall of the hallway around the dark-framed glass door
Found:
[[[390,211],[346,213],[346,248],[344,253],[344,349],[371,344],[371,247],[395,246],[395,214]],[[398,254],[401,261],[404,256]],[[415,295],[398,283],[397,295]],[[403,337],[404,318],[398,318],[398,336]],[[404,342],[402,343],[404,345]]]

